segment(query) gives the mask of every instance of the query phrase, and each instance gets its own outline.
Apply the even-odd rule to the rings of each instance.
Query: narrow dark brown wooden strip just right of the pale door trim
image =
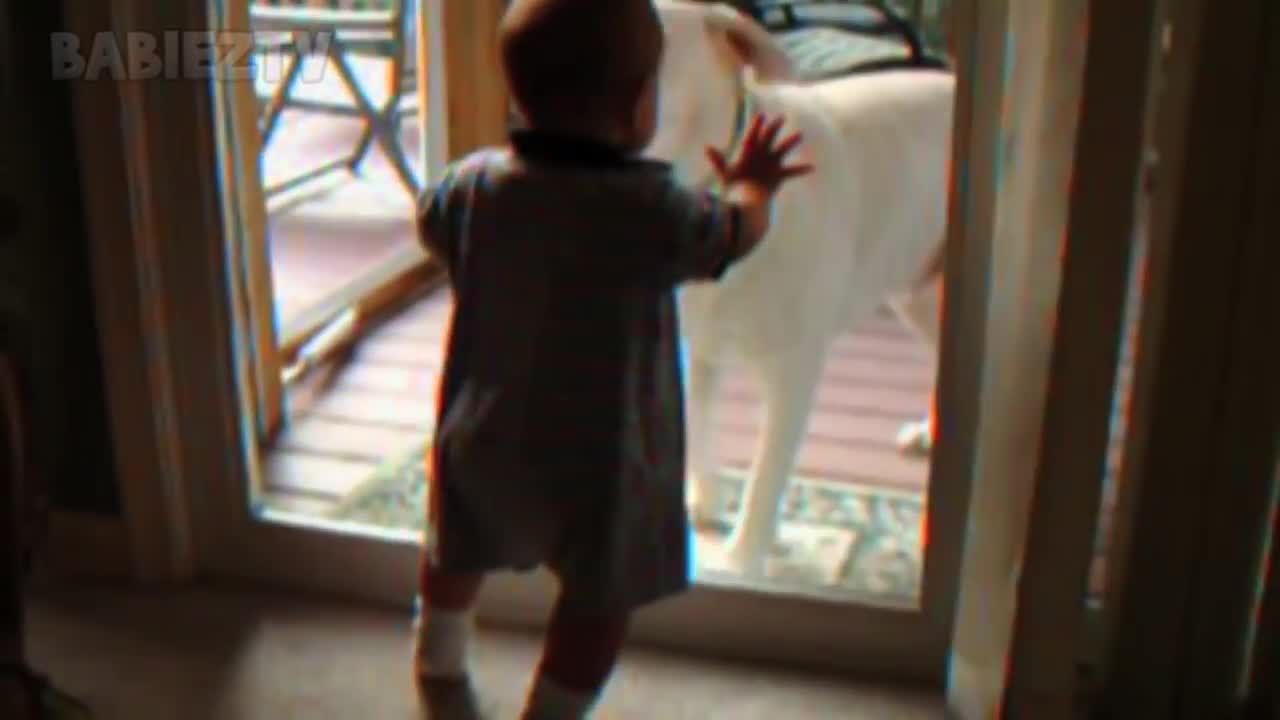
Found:
[[[1112,439],[1117,372],[1161,61],[1161,0],[1088,3],[1089,41],[1066,213],[1056,342],[1048,386],[1004,708],[1048,717],[1087,692],[1100,614],[1085,603]],[[1092,327],[1068,340],[1066,328]],[[1091,420],[1093,419],[1093,420]]]

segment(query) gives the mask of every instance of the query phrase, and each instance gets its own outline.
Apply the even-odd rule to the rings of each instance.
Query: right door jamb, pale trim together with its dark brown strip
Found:
[[[986,337],[982,389],[942,379],[942,392],[975,395],[978,415],[969,421],[982,434],[968,448],[970,461],[996,473],[974,488],[966,518],[948,687],[948,710],[959,717],[1068,716],[1078,666],[1093,650],[1089,630],[1097,618],[1084,598],[1124,337],[1155,10],[1152,0],[1062,3],[1047,14],[1010,4],[1007,33],[978,38],[982,53],[986,45],[1024,46],[1043,33],[1044,74],[1027,82],[1046,90],[1042,105],[1059,106],[1029,109],[1041,115],[1024,118],[1023,135],[1007,138],[1010,154],[1030,159],[1009,167],[1015,174],[1005,190],[984,178],[973,192],[991,193],[993,218],[1006,223],[1024,218],[1034,228],[1062,227],[1064,245],[1060,250],[1048,237],[1029,245],[1018,224],[984,228],[995,233],[1000,254],[991,259],[989,302],[1006,311],[968,331]],[[980,12],[1002,10],[983,3]],[[1055,70],[1061,53],[1079,44],[1082,17],[1089,28],[1083,77],[1064,78]],[[973,28],[972,18],[952,18],[959,38],[974,35],[965,29]],[[1007,61],[988,58],[977,67],[1000,73]],[[1036,59],[1019,59],[1015,78],[1036,72],[1024,61],[1034,65]],[[1005,138],[988,140],[997,141]],[[1044,165],[1087,173],[1091,181],[1074,183],[1057,200],[1062,179],[1043,177]],[[1041,284],[1010,287],[1001,266],[1014,268],[1009,277],[1028,277],[1034,268],[1029,277]],[[1043,316],[1027,316],[1019,304],[1038,305]],[[940,400],[945,405],[945,396]]]

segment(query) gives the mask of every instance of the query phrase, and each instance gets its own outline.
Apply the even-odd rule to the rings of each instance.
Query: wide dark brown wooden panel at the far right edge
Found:
[[[1277,29],[1268,0],[1174,17],[1098,716],[1226,717],[1244,692],[1280,427]]]

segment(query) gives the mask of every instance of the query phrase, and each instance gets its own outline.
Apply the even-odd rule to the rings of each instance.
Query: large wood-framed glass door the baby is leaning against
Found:
[[[1033,281],[1056,287],[1052,263],[1043,260],[1057,252],[1060,233],[1051,228],[1064,222],[1074,128],[1046,133],[1038,118],[1050,101],[1076,101],[1080,68],[1055,69],[1065,78],[1061,88],[1041,86],[1050,49],[1083,42],[1083,15],[1064,10],[1053,15],[1060,26],[1019,26],[1014,44],[1004,3],[915,4],[924,8],[914,15],[923,18],[920,27],[904,20],[909,13],[878,4],[841,4],[845,15],[808,19],[809,4],[790,5],[792,19],[762,15],[760,24],[709,4],[659,3],[668,50],[652,152],[699,182],[707,174],[703,146],[731,143],[745,113],[760,108],[785,111],[805,129],[822,169],[783,196],[778,237],[758,256],[719,286],[682,291],[696,584],[644,611],[635,633],[740,657],[938,680],[978,473],[972,451],[979,416],[1009,411],[1007,402],[984,410],[993,389],[1009,396],[983,383],[984,348],[993,342],[988,325],[1002,328],[995,342],[1011,343],[1002,347],[1051,334],[1052,314],[1030,310],[1051,306],[1055,291],[1042,290],[1011,325],[991,323],[1000,309],[988,301]],[[507,105],[492,59],[502,6],[424,0],[415,10],[425,78],[417,102],[431,128],[421,136],[425,182],[444,158],[479,143],[458,137],[502,141]],[[193,18],[206,13],[196,13],[195,3],[189,9]],[[252,27],[248,8],[236,0],[216,5],[211,17],[221,28]],[[943,27],[952,28],[948,42],[919,40],[940,37]],[[955,59],[940,45],[955,47]],[[748,67],[755,72],[744,73]],[[385,313],[364,325],[353,347],[332,343],[349,348],[342,363],[333,361],[338,354],[317,354],[315,382],[280,414],[283,439],[266,443],[261,409],[274,396],[259,375],[269,354],[255,348],[265,342],[260,238],[270,202],[246,188],[255,163],[270,163],[270,150],[253,122],[260,110],[248,83],[223,83],[215,92],[227,263],[210,272],[230,288],[234,352],[225,368],[233,372],[219,374],[215,357],[207,387],[189,392],[225,407],[227,427],[239,432],[225,437],[223,465],[209,470],[225,474],[201,488],[210,501],[200,519],[209,537],[205,564],[407,606],[425,530],[424,451],[448,293],[425,293]],[[1029,113],[1016,126],[1023,145],[1002,135],[1007,106]],[[278,137],[302,142],[307,132],[298,126]],[[1010,155],[1010,147],[1034,151]],[[1023,233],[1018,223],[1030,222],[1036,196],[1011,196],[1005,177],[1041,163],[1064,170],[1036,179],[1052,202],[1034,218],[1050,229]],[[207,190],[219,192],[215,178]],[[389,202],[389,193],[375,192],[378,202]],[[330,217],[307,237],[344,222]],[[387,232],[408,243],[408,222],[404,206],[387,222],[398,229]],[[1004,258],[993,256],[997,247]],[[780,272],[788,266],[805,270]],[[1004,275],[988,287],[993,272]],[[768,299],[768,316],[744,316],[753,297]],[[328,334],[308,340],[347,334],[360,318],[339,313],[337,324],[323,323]],[[744,340],[739,328],[753,334]],[[1070,332],[1088,328],[1064,334]],[[1044,379],[1029,378],[1020,395],[1042,393]],[[1025,418],[1034,427],[1023,428],[1024,439],[1039,432],[1036,413]],[[553,597],[545,574],[499,575],[481,612],[538,625]]]

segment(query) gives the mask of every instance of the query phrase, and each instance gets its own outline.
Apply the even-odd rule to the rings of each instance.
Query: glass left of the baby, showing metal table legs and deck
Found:
[[[415,229],[420,147],[435,137],[419,111],[435,99],[420,97],[417,3],[229,0],[221,12],[248,23],[259,50],[255,92],[227,92],[220,111],[253,105],[259,119],[233,142],[260,168],[269,266],[255,266],[264,249],[242,232],[239,282],[253,319],[270,305],[280,366],[257,370],[284,379],[285,402],[283,429],[260,438],[247,501],[315,521],[412,525],[412,507],[394,509],[420,507],[421,473],[394,488],[403,497],[385,478],[406,457],[421,465],[439,356],[436,338],[412,332],[426,263]],[[243,229],[253,208],[241,211]],[[266,296],[255,293],[264,273]],[[370,488],[381,488],[379,501]]]

